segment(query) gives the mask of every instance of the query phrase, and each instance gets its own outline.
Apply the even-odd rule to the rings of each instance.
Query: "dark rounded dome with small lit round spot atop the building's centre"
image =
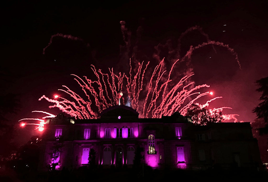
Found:
[[[101,112],[101,119],[118,118],[119,116],[120,118],[138,118],[139,113],[135,109],[125,105],[111,106]]]

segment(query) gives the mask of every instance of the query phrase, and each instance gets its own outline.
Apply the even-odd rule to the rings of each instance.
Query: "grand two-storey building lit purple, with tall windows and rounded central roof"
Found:
[[[132,168],[138,147],[144,148],[141,163],[158,169],[207,169],[217,164],[224,169],[257,170],[262,166],[249,122],[196,126],[179,113],[153,119],[138,116],[136,110],[120,105],[104,110],[100,119],[75,120],[63,114],[49,118],[39,171],[47,170],[51,162],[58,163],[59,169],[87,165],[91,148],[102,168]],[[63,146],[51,155],[58,136]]]

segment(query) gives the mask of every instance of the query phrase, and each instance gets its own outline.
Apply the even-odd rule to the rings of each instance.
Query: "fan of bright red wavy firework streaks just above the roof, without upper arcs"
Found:
[[[91,119],[99,118],[99,114],[102,110],[109,106],[118,105],[118,95],[122,90],[124,96],[130,98],[132,108],[136,109],[140,113],[140,118],[160,118],[162,115],[170,116],[178,110],[184,115],[187,109],[191,107],[198,98],[210,95],[210,92],[204,92],[201,94],[199,94],[199,92],[195,92],[199,88],[209,87],[206,84],[189,89],[189,86],[193,85],[194,82],[185,84],[185,81],[191,75],[184,76],[173,88],[167,90],[167,88],[170,88],[170,78],[166,77],[166,80],[161,79],[167,71],[163,66],[163,60],[155,67],[155,70],[150,77],[148,87],[145,88],[142,81],[148,64],[149,62],[145,66],[143,66],[143,63],[139,64],[138,69],[136,69],[137,72],[133,73],[131,70],[130,76],[127,76],[124,73],[115,74],[113,69],[109,69],[110,74],[104,74],[101,70],[96,70],[92,65],[92,70],[96,76],[96,80],[88,79],[86,76],[82,79],[79,76],[74,75],[77,77],[75,80],[87,96],[86,99],[83,99],[82,96],[79,96],[68,87],[63,86],[67,90],[61,91],[69,94],[74,101],[70,101],[65,98],[62,98],[62,101],[59,101],[49,99],[44,95],[39,100],[44,98],[47,101],[54,103],[54,105],[51,105],[50,108],[58,107],[63,112],[68,113],[70,116],[75,118]],[[172,70],[170,70],[170,72],[171,71]],[[170,72],[168,75],[170,75]],[[147,93],[144,101],[139,98],[140,93]],[[198,95],[193,98],[192,101],[185,103],[188,97],[195,94]],[[209,102],[217,98],[221,97],[211,99],[207,101],[206,104],[200,106],[208,106]],[[94,99],[94,102],[92,102],[92,99]],[[94,111],[94,107],[97,107],[98,112]],[[221,109],[224,108],[227,107],[222,107]]]

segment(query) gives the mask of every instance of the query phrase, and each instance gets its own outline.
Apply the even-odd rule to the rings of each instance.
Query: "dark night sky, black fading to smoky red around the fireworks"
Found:
[[[1,94],[20,94],[23,105],[16,116],[10,116],[12,124],[18,125],[22,118],[40,118],[40,114],[31,113],[33,110],[58,114],[58,109],[49,109],[50,103],[38,99],[59,93],[62,85],[77,88],[70,74],[91,76],[91,64],[102,69],[116,65],[119,45],[124,43],[121,20],[126,21],[134,38],[137,27],[143,26],[143,42],[148,50],[167,39],[176,41],[182,32],[195,25],[202,27],[211,40],[229,44],[238,53],[242,69],[226,49],[216,46],[215,54],[207,46],[193,53],[193,80],[196,85],[209,84],[215,96],[223,96],[211,102],[211,107],[232,107],[226,113],[239,114],[240,121],[255,119],[251,110],[259,103],[260,94],[255,91],[254,82],[268,76],[265,1],[13,1],[1,6],[1,17],[1,72],[13,80],[2,84]],[[71,34],[84,42],[56,37],[43,55],[51,35],[57,33]],[[182,41],[182,51],[203,41],[202,35],[189,34]],[[18,143],[38,134],[31,127],[23,130],[17,128]]]

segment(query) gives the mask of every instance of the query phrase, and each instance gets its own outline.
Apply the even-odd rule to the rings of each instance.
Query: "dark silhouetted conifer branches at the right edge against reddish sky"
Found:
[[[260,96],[260,102],[257,107],[255,107],[252,112],[256,113],[258,119],[264,119],[265,127],[258,128],[259,134],[268,133],[268,77],[257,80],[256,83],[259,85],[259,88],[256,90],[262,92]]]

